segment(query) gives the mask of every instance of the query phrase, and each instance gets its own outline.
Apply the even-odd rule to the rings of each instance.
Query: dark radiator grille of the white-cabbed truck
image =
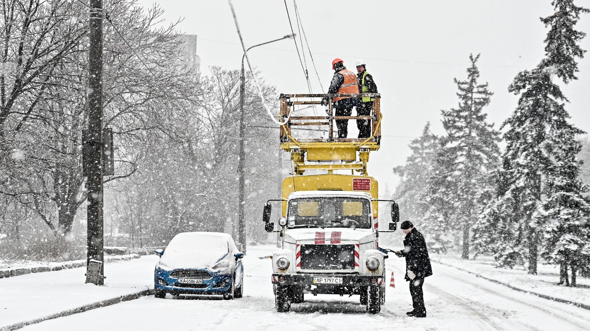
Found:
[[[301,269],[355,269],[355,245],[301,245]]]

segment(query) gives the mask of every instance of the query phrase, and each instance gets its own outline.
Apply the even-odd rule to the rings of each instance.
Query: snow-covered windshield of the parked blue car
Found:
[[[186,236],[179,235],[174,237],[168,247],[169,251],[178,251],[182,253],[221,253],[225,254],[230,251],[228,240],[219,236]]]

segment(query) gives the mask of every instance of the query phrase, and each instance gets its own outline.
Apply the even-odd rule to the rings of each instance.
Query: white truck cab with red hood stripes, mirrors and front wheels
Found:
[[[269,200],[272,201],[272,200]],[[286,217],[278,221],[282,249],[273,252],[273,289],[278,312],[300,303],[304,294],[360,294],[369,313],[385,302],[385,250],[377,246],[378,223],[371,194],[359,191],[296,191],[287,197]],[[383,200],[381,200],[383,201]],[[389,201],[389,200],[385,200]],[[399,220],[392,204],[395,231]],[[263,219],[267,231],[271,205]]]

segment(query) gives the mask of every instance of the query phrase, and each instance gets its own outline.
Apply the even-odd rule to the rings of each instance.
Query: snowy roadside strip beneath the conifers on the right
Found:
[[[434,262],[440,262],[489,280],[507,284],[516,289],[590,307],[590,279],[578,276],[578,287],[558,286],[558,266],[539,264],[537,267],[538,274],[534,276],[528,274],[523,267],[514,267],[514,269],[496,268],[491,257],[463,260],[459,256],[449,253],[447,255],[431,254],[430,258]]]

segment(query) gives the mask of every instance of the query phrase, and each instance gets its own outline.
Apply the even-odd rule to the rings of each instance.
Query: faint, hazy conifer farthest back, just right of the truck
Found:
[[[394,168],[394,173],[401,177],[395,190],[401,214],[405,220],[416,223],[422,220],[427,206],[420,200],[431,176],[432,156],[437,149],[437,137],[430,131],[430,123],[422,130],[422,135],[409,143],[412,154],[404,166]]]

